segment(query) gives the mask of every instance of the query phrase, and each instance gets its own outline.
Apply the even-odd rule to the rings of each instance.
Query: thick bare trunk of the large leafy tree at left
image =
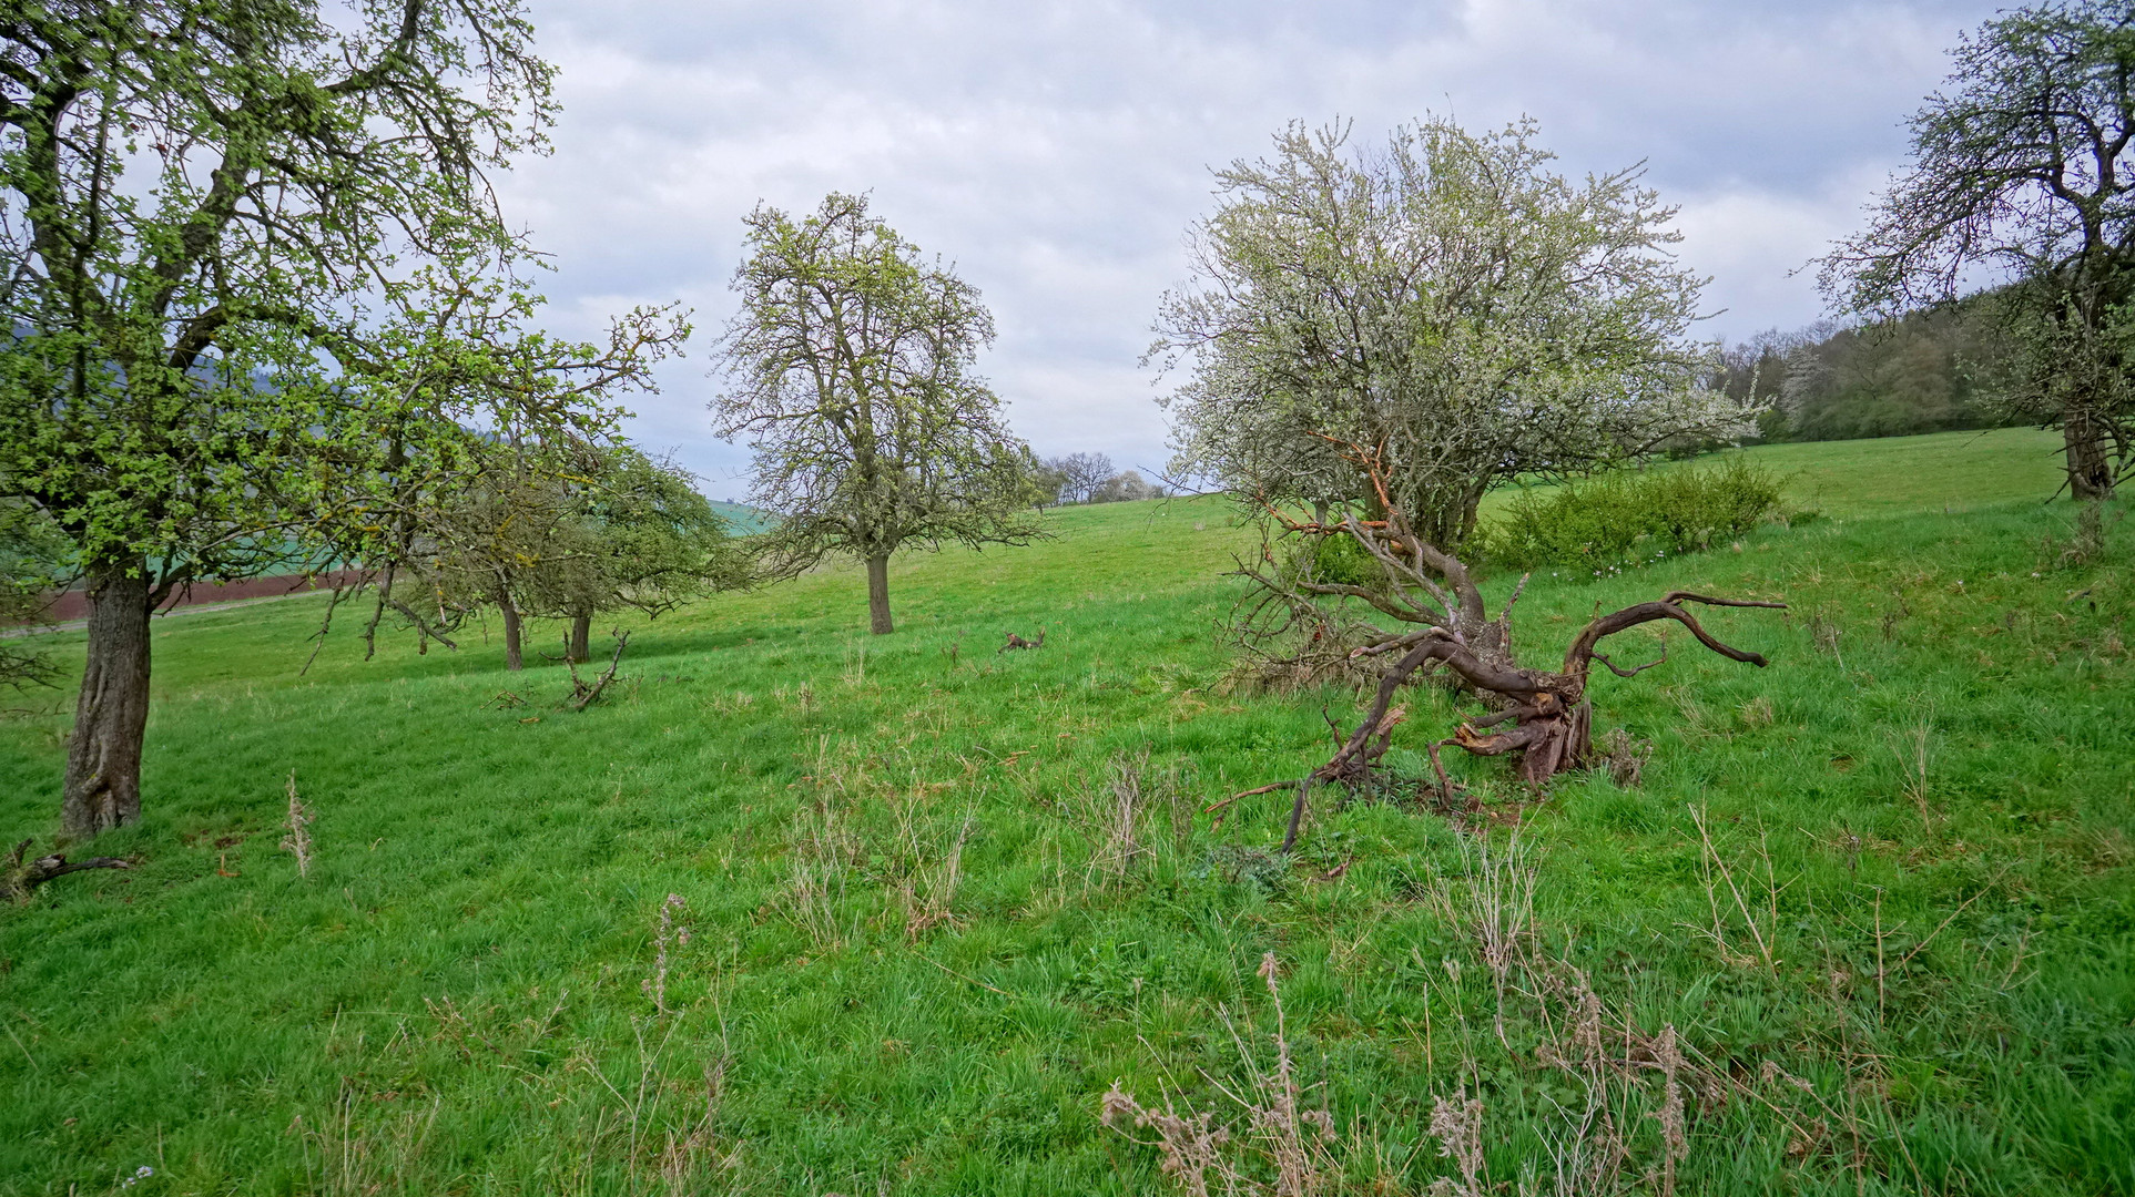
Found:
[[[60,828],[94,836],[141,817],[147,736],[147,565],[139,557],[90,572],[90,647],[66,749]]]

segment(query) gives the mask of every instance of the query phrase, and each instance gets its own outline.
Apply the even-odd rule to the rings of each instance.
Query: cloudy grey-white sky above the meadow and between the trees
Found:
[[[741,218],[867,190],[999,322],[982,369],[1040,454],[1161,467],[1138,367],[1208,169],[1290,119],[1360,139],[1426,111],[1541,124],[1567,173],[1644,160],[1712,277],[1710,335],[1821,314],[1796,267],[1904,156],[1977,0],[952,2],[534,0],[562,66],[555,154],[500,179],[553,256],[557,331],[683,301],[698,335],[630,433],[713,497],[747,454],[709,431],[709,346]]]

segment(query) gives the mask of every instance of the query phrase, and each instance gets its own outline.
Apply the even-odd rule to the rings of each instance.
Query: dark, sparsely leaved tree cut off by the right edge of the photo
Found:
[[[2009,11],[1911,119],[1913,164],[1823,258],[1845,309],[1900,316],[2000,286],[2022,346],[2009,401],[2062,429],[2077,499],[2135,461],[2135,6]]]

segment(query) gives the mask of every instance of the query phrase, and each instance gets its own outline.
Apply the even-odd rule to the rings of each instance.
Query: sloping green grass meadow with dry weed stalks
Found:
[[[1322,792],[1287,860],[1287,794],[1202,809],[1362,702],[1223,685],[1213,499],[901,559],[888,638],[854,570],[636,625],[583,715],[478,632],[363,661],[344,615],[299,674],[318,600],[158,621],[147,817],[96,841],[139,866],[0,909],[0,1193],[1170,1193],[1100,1101],[1281,1137],[1234,1101],[1281,1088],[1264,954],[1319,1193],[1458,1184],[1454,1095],[1490,1193],[2135,1193],[2135,533],[2067,565],[2050,448],[1751,450],[1828,518],[1520,600],[1537,659],[1791,604],[1712,617],[1768,670],[1597,683],[1638,787],[1450,762],[1467,830]],[[1407,704],[1413,775],[1460,708]],[[66,723],[0,721],[9,841]]]

